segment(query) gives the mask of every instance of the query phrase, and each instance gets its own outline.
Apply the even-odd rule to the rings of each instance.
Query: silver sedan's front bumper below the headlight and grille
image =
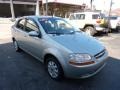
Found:
[[[88,78],[97,74],[106,64],[107,53],[97,63],[85,66],[68,65],[65,76],[69,78]]]

